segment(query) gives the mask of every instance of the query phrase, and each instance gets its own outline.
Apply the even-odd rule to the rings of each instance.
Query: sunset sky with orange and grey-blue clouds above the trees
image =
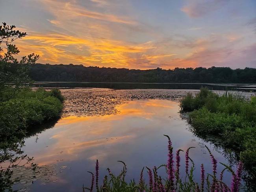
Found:
[[[256,68],[256,0],[0,0],[38,63]]]

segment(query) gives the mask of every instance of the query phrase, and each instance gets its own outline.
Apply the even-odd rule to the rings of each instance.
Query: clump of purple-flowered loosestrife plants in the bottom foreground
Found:
[[[176,157],[174,161],[174,151],[172,147],[171,139],[168,135],[168,160],[167,164],[163,164],[159,167],[154,166],[153,168],[146,169],[143,167],[140,173],[139,182],[136,183],[135,180],[127,182],[125,179],[127,173],[127,166],[124,162],[119,161],[123,164],[123,170],[119,175],[114,175],[108,168],[108,175],[105,175],[103,184],[99,186],[99,162],[96,160],[95,173],[89,172],[92,175],[91,186],[84,187],[83,192],[238,192],[241,187],[241,174],[243,163],[239,162],[237,164],[237,171],[234,172],[226,164],[223,165],[223,170],[217,175],[217,160],[212,155],[211,151],[208,149],[211,157],[212,173],[205,174],[204,164],[200,166],[201,178],[200,182],[196,182],[193,176],[195,172],[195,164],[193,160],[189,157],[189,150],[186,150],[185,155],[185,177],[180,175],[180,152],[183,150],[176,151]],[[210,162],[209,162],[210,163]],[[167,173],[167,177],[163,178],[158,174],[158,170],[164,168]],[[144,178],[145,170],[147,170],[148,183]],[[232,174],[232,180],[229,184],[223,182],[224,172],[230,172]],[[139,173],[138,173],[139,174]],[[95,182],[96,181],[96,182]]]

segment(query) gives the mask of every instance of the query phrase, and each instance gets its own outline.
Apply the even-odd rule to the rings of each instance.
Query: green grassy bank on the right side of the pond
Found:
[[[256,178],[256,97],[247,101],[237,93],[219,96],[202,88],[195,96],[187,94],[180,107],[191,112],[190,124],[197,135],[221,138]]]

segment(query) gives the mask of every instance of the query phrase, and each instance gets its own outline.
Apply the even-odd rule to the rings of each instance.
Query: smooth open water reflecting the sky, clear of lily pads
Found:
[[[174,150],[186,150],[195,161],[195,177],[199,178],[199,166],[204,163],[206,172],[211,172],[211,159],[204,147],[206,144],[218,161],[228,163],[210,143],[195,137],[189,131],[186,120],[180,116],[178,102],[168,100],[134,100],[116,107],[119,113],[103,116],[67,116],[54,127],[27,138],[25,154],[33,156],[39,166],[50,165],[57,175],[50,176],[54,182],[39,178],[32,185],[17,184],[14,188],[26,187],[31,191],[79,192],[82,185],[90,185],[90,174],[95,160],[100,163],[100,181],[110,168],[115,174],[122,169],[122,160],[128,165],[127,180],[139,180],[143,166],[153,167],[167,162],[167,134],[173,141]],[[219,172],[222,166],[219,166]],[[165,175],[164,169],[160,174]],[[182,168],[184,173],[184,153]],[[146,172],[145,172],[145,175]],[[229,174],[225,180],[230,181]]]

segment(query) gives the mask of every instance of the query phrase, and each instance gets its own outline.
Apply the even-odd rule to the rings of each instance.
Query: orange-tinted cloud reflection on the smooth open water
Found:
[[[117,114],[62,118],[52,129],[41,133],[37,144],[41,149],[33,153],[35,162],[44,165],[62,159],[104,159],[115,153],[118,145],[133,142],[141,130],[155,131],[152,122],[160,124],[160,117],[177,116],[178,106],[165,100],[138,100],[116,109]]]

